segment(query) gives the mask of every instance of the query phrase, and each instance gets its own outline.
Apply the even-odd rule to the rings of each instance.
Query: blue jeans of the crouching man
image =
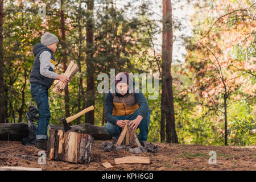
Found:
[[[133,114],[130,114],[130,115],[115,115],[114,117],[117,118],[118,120],[134,120],[137,118],[138,114],[139,114],[139,109],[137,109]],[[141,123],[139,123],[139,126],[138,126],[139,142],[143,142],[147,140],[149,123],[150,123],[150,109],[148,109],[147,114],[144,115]],[[122,127],[113,125],[110,122],[106,123],[105,129],[106,129],[106,133],[108,133],[109,135],[115,138],[118,138],[122,131]]]

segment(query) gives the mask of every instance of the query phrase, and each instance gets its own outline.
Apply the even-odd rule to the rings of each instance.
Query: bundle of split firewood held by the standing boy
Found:
[[[69,81],[72,79],[72,77],[76,74],[76,72],[79,71],[79,67],[77,67],[77,65],[74,63],[74,61],[71,61],[71,63],[69,63],[67,70],[65,71],[64,75],[69,77]],[[53,90],[56,93],[62,93],[62,91],[64,90],[65,86],[67,86],[67,84],[65,84],[63,81],[60,80],[55,80],[54,81],[54,86],[53,86]]]

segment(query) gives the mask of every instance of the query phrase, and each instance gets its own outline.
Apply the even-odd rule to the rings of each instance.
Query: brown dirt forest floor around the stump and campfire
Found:
[[[94,140],[89,164],[73,164],[46,159],[46,164],[38,164],[38,152],[34,146],[22,146],[21,142],[0,141],[0,166],[38,167],[43,170],[256,170],[256,146],[202,146],[198,144],[154,143],[160,148],[157,154],[144,152],[131,154],[128,151],[103,152]],[[217,164],[209,164],[209,151],[216,151]],[[145,156],[150,164],[114,164],[114,158],[124,156]],[[105,168],[109,162],[113,168]]]

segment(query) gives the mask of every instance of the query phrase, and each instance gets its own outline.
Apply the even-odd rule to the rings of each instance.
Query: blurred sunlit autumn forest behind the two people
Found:
[[[174,12],[185,7],[192,13],[184,20]],[[256,144],[255,7],[253,0],[0,0],[0,122],[27,122],[36,105],[32,48],[48,31],[60,40],[55,72],[71,60],[80,69],[64,96],[49,89],[51,124],[94,105],[73,125],[105,125],[97,76],[114,68],[159,73],[159,97],[148,100],[149,142]],[[182,47],[183,59],[175,57]]]

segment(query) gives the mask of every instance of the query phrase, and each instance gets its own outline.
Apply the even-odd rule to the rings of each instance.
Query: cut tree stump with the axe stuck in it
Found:
[[[92,147],[92,135],[49,130],[47,155],[50,159],[71,163],[89,163]]]

